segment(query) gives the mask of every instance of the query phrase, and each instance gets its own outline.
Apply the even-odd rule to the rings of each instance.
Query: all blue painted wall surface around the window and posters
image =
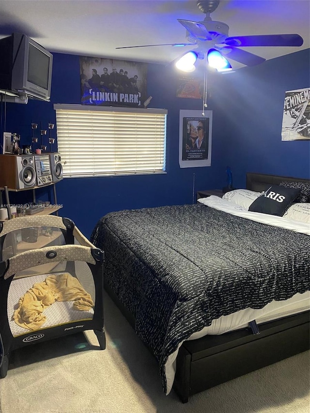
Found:
[[[309,177],[310,142],[281,141],[285,91],[309,87],[309,57],[308,49],[235,73],[209,74],[212,164],[205,168],[181,169],[178,161],[179,110],[201,110],[202,101],[176,98],[174,69],[149,64],[148,95],[153,96],[149,107],[168,109],[167,173],[64,179],[56,185],[58,203],[63,204],[60,215],[73,219],[89,237],[97,220],[110,211],[192,203],[193,189],[225,186],[226,165],[233,170],[236,187],[245,187],[248,171]],[[31,122],[56,123],[54,103],[80,103],[78,56],[54,54],[51,102],[7,104],[6,130],[20,133],[22,144],[30,143]],[[37,199],[45,199],[49,192],[37,190]],[[22,193],[24,202],[31,201],[30,193]]]

